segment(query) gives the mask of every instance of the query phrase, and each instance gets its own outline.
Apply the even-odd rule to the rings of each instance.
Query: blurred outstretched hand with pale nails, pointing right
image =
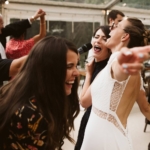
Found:
[[[118,62],[123,72],[136,75],[142,68],[143,62],[150,58],[150,46],[122,48]]]

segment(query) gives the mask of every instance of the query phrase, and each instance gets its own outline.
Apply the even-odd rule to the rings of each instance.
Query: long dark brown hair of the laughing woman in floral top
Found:
[[[73,121],[79,113],[78,79],[69,96],[65,94],[66,54],[71,50],[78,55],[73,43],[49,36],[31,50],[16,77],[0,90],[0,137],[18,108],[34,96],[43,116],[48,121],[46,149],[61,149],[63,139],[70,141]],[[3,132],[4,131],[4,132]]]

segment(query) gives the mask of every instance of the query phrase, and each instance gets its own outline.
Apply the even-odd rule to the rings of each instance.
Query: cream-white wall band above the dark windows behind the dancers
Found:
[[[3,5],[4,22],[8,24],[10,18],[28,18],[41,8],[46,11],[46,20],[101,22],[104,24],[104,12],[98,8],[81,8],[81,6],[73,6],[72,3],[53,3],[45,0],[39,0],[38,3],[33,3],[32,0],[25,0],[25,2],[20,0],[17,3],[10,0],[8,5]]]

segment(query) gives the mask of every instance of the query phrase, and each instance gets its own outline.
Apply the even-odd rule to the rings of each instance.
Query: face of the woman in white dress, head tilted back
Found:
[[[125,27],[129,25],[129,22],[124,19],[121,22],[118,23],[118,25],[115,25],[112,27],[110,32],[110,38],[107,39],[106,46],[109,49],[113,49],[119,44],[122,44],[123,46],[127,45],[126,36],[128,33],[125,32]]]

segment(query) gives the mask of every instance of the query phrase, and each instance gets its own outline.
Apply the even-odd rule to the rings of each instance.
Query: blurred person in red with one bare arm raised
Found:
[[[25,40],[26,30],[22,30],[21,35],[13,35],[6,44],[6,56],[9,59],[20,58],[27,55],[33,45],[41,40],[46,35],[46,23],[45,23],[45,12],[39,9],[38,14],[40,16],[40,28],[39,33],[32,38]]]

